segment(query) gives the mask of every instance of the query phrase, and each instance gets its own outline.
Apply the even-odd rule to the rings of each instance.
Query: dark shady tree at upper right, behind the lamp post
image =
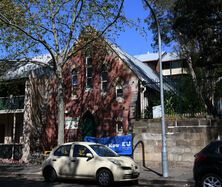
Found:
[[[188,68],[196,93],[209,114],[216,114],[215,92],[222,79],[221,0],[168,0],[153,4],[165,43],[176,41]],[[154,22],[147,20],[155,32]]]

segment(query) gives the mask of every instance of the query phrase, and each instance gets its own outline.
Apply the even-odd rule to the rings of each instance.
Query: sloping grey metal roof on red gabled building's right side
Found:
[[[129,55],[117,45],[112,44],[110,42],[108,42],[108,44],[143,83],[145,83],[148,87],[153,88],[157,91],[160,90],[159,73],[154,71],[149,65],[146,65],[137,58]],[[164,89],[175,90],[172,85],[166,82],[164,83]]]

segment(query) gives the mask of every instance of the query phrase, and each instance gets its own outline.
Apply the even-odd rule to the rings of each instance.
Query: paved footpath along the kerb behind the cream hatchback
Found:
[[[192,168],[190,167],[169,168],[169,177],[162,177],[161,168],[141,166],[140,172],[139,186],[194,187]],[[0,177],[25,177],[26,175],[40,177],[42,175],[41,165],[0,163]]]

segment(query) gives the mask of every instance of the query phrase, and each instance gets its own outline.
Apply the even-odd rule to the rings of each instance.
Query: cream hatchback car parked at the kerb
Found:
[[[93,179],[100,186],[117,181],[138,182],[139,167],[132,158],[119,156],[105,145],[70,142],[53,149],[43,162],[46,181],[57,178]]]

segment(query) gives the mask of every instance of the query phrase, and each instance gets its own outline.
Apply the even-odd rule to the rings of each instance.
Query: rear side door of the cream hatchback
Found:
[[[51,162],[59,175],[66,176],[70,172],[71,144],[59,146],[53,153]]]

